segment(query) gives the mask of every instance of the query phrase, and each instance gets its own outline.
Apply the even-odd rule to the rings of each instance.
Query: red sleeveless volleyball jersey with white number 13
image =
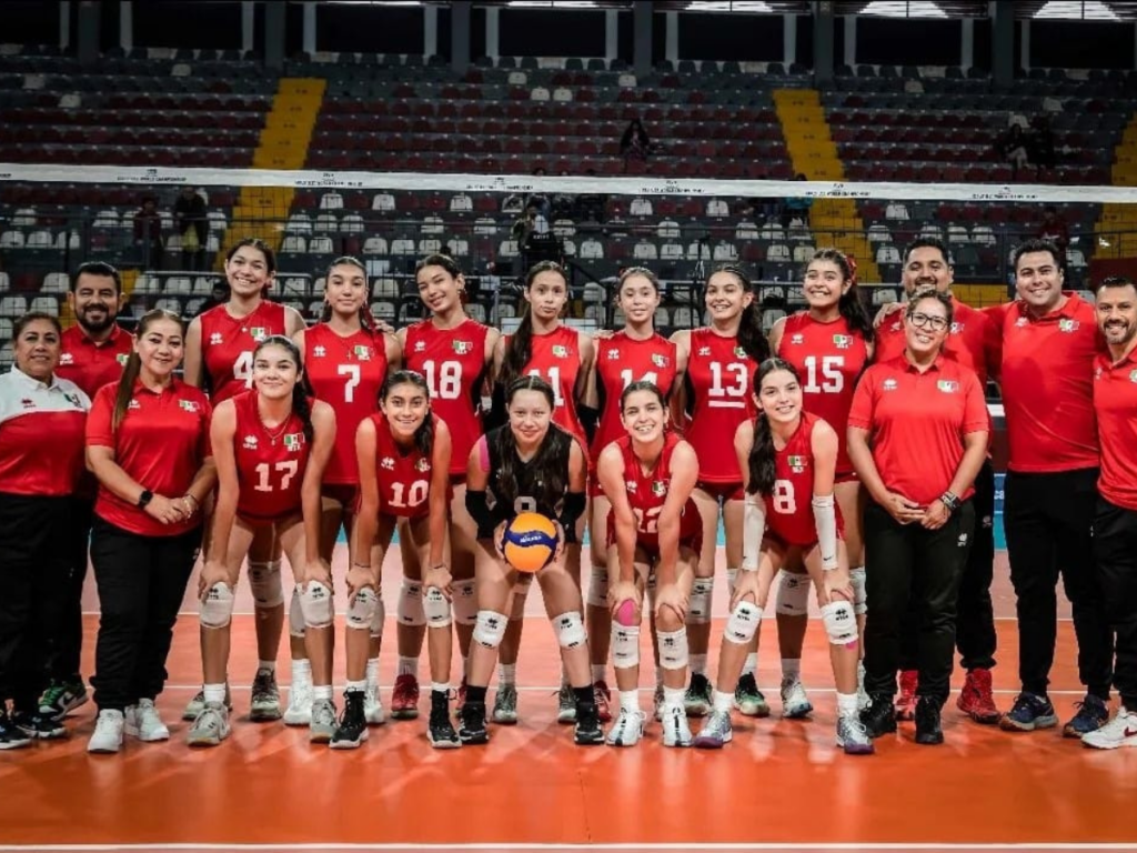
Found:
[[[699,457],[699,482],[738,483],[742,472],[735,455],[738,424],[754,408],[754,374],[758,365],[738,343],[711,329],[691,330],[687,388],[691,422],[687,440]]]

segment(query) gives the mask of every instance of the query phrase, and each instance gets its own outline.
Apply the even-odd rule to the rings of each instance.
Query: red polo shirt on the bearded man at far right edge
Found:
[[[1094,411],[1102,440],[1097,490],[1114,506],[1137,512],[1137,354],[1094,367]]]

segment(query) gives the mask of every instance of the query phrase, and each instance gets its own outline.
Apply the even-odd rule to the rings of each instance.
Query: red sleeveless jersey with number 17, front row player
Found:
[[[257,411],[256,391],[233,398],[236,409],[236,481],[241,517],[280,519],[300,512],[300,483],[308,465],[310,447],[304,422],[290,414],[288,422],[268,430]]]

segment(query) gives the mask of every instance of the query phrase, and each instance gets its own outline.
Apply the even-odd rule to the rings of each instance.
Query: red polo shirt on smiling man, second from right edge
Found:
[[[1094,361],[1105,350],[1094,306],[1077,293],[1039,320],[1021,301],[986,309],[1002,330],[1001,383],[1010,450],[1020,473],[1097,467]]]

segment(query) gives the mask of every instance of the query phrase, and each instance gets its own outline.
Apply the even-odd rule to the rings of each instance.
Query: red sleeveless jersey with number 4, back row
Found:
[[[252,388],[252,351],[265,338],[284,334],[284,306],[267,299],[247,317],[225,305],[201,315],[201,365],[216,406]]]

